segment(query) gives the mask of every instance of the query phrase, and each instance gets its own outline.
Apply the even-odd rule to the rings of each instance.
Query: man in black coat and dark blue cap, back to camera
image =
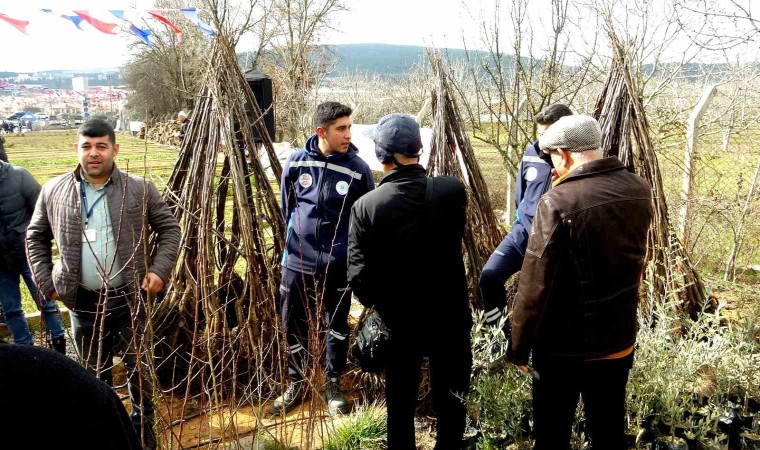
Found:
[[[425,176],[419,126],[391,114],[375,129],[385,176],[351,211],[348,277],[391,333],[385,372],[388,448],[413,450],[422,358],[430,359],[437,450],[459,449],[472,355],[462,258],[467,196],[454,177]]]

